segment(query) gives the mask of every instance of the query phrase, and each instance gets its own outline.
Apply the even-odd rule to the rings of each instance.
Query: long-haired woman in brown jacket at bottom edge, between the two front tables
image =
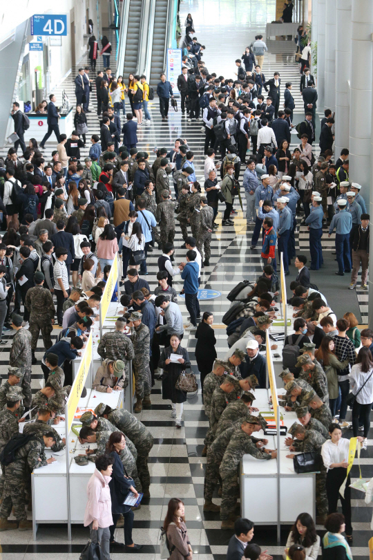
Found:
[[[192,548],[185,525],[184,502],[171,498],[163,523],[170,548],[173,548],[169,560],[191,560]]]

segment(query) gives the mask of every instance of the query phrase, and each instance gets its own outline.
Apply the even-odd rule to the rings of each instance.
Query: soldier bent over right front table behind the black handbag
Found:
[[[321,455],[321,447],[326,441],[325,438],[315,430],[307,430],[304,426],[298,424],[294,430],[294,436],[297,439],[297,445],[291,446],[290,451],[300,451],[301,453],[316,452]],[[294,458],[294,455],[287,455],[288,458]],[[325,518],[328,513],[327,493],[326,493],[326,475],[327,470],[323,465],[320,473],[316,474],[316,508],[317,518],[316,523],[325,523]]]

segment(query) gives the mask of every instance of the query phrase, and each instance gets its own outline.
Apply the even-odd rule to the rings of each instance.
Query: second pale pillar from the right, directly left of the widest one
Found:
[[[336,73],[336,158],[350,146],[351,6],[352,0],[336,2],[336,68],[343,68]]]

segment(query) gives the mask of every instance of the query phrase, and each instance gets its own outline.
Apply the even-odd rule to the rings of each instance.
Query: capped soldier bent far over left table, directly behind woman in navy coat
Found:
[[[150,474],[148,467],[149,452],[153,447],[153,436],[150,431],[146,429],[144,424],[137,420],[131,412],[125,409],[111,409],[106,404],[100,403],[95,408],[97,416],[104,416],[111,422],[119,431],[122,431],[126,436],[131,438],[131,441],[136,447],[137,451],[137,473],[139,475],[142,492],[145,497],[150,496]]]

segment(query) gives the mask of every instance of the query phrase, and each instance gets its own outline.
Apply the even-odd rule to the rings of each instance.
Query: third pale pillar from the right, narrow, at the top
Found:
[[[325,109],[336,109],[336,0],[325,3]],[[318,103],[318,109],[322,109]]]

